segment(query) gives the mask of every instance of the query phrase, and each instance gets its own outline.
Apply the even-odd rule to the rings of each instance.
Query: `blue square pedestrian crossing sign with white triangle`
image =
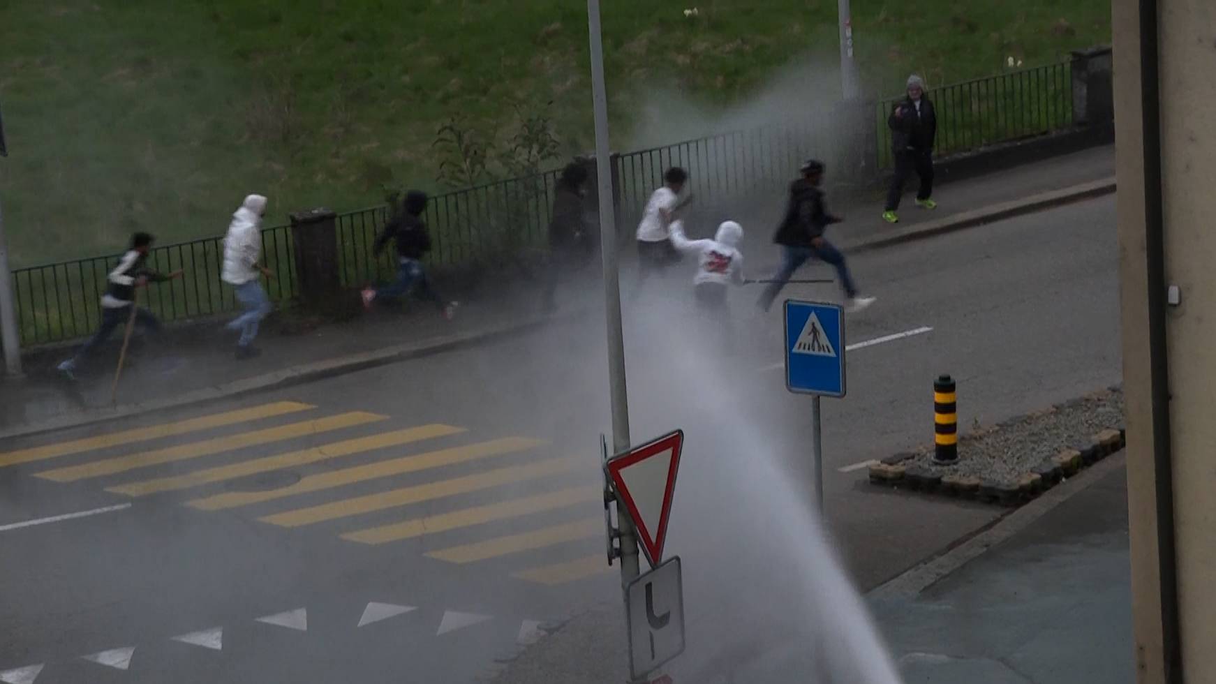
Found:
[[[844,396],[844,309],[786,300],[786,386],[792,392]]]

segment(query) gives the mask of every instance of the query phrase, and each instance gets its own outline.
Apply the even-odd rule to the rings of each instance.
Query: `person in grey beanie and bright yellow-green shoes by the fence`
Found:
[[[891,176],[891,187],[886,193],[883,220],[897,224],[900,217],[895,211],[900,208],[903,183],[913,171],[921,177],[921,190],[916,194],[917,207],[938,208],[938,203],[933,200],[933,143],[938,137],[938,114],[924,94],[924,80],[921,77],[908,77],[907,97],[895,103],[886,125],[891,129],[895,175]]]

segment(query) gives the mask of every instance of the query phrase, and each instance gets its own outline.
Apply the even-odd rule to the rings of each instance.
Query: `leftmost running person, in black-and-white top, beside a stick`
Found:
[[[150,282],[159,283],[180,278],[182,271],[178,270],[169,275],[162,275],[146,265],[148,250],[152,249],[153,237],[148,233],[135,233],[131,236],[130,249],[118,260],[118,266],[109,272],[106,283],[106,294],[101,298],[101,327],[94,333],[89,341],[77,350],[75,356],[57,366],[60,373],[69,380],[75,379],[75,372],[84,360],[102,344],[114,329],[126,324],[125,341],[130,339],[131,328],[139,323],[148,332],[156,332],[161,323],[147,309],[136,305],[136,288],[141,288]],[[125,349],[124,349],[125,351]]]

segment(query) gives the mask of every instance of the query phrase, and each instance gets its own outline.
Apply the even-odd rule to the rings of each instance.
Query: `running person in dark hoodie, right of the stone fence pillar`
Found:
[[[457,303],[446,301],[430,287],[427,272],[422,267],[422,258],[430,251],[430,234],[422,220],[427,210],[427,193],[411,190],[405,194],[402,210],[394,210],[384,231],[376,238],[375,253],[379,256],[384,245],[396,242],[396,281],[387,287],[364,289],[364,306],[371,309],[372,303],[384,296],[404,296],[416,293],[421,299],[433,301],[449,321],[456,315]]]

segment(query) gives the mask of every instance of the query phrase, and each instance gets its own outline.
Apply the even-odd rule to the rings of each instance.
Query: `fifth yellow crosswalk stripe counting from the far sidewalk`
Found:
[[[322,522],[325,520],[337,520],[339,518],[360,515],[362,513],[372,513],[376,510],[384,510],[387,508],[398,508],[411,503],[435,501],[444,497],[489,490],[502,485],[536,480],[548,475],[573,470],[579,465],[579,463],[580,460],[574,458],[553,458],[536,463],[528,463],[525,465],[508,465],[506,468],[474,473],[473,475],[452,477],[450,480],[413,485],[411,487],[401,487],[400,490],[393,490],[389,492],[323,503],[298,510],[287,510],[259,518],[259,520],[263,522],[270,522],[271,525],[278,525],[280,527],[302,527],[304,525],[313,525],[314,522]]]

